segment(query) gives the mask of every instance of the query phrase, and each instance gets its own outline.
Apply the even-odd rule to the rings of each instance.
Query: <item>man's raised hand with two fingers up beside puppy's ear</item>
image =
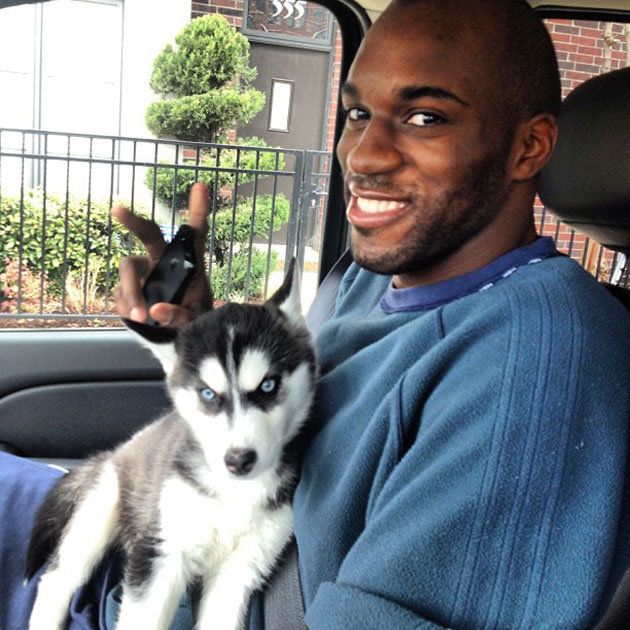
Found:
[[[165,326],[180,326],[212,307],[212,292],[203,266],[209,207],[208,188],[197,182],[190,189],[188,225],[195,230],[195,250],[200,269],[191,280],[181,306],[158,302],[151,307],[150,312],[142,295],[142,287],[164,252],[166,242],[153,221],[138,217],[123,206],[112,208],[112,216],[142,242],[148,254],[128,256],[120,263],[120,286],[116,289],[115,301],[121,317],[145,322],[150,314],[156,322]]]

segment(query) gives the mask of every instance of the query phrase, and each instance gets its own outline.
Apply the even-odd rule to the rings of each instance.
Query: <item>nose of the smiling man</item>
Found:
[[[346,162],[349,170],[357,175],[380,175],[398,169],[403,155],[389,125],[372,119],[356,138]]]

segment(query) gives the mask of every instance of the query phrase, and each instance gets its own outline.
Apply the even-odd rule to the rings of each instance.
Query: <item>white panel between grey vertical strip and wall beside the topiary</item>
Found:
[[[119,0],[54,0],[42,5],[40,128],[91,135],[120,133],[120,80],[123,12]],[[44,147],[40,147],[43,149]],[[112,142],[73,138],[73,155],[111,159]],[[66,136],[48,136],[46,153],[68,152]],[[70,179],[77,196],[106,197],[111,165],[49,160],[46,188],[65,190]],[[38,173],[40,185],[44,173]]]

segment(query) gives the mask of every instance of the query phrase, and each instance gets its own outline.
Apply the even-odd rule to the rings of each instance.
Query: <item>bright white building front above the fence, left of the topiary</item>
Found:
[[[122,0],[52,0],[0,12],[0,128],[116,136],[120,132]],[[2,151],[111,158],[111,142],[2,133]],[[4,192],[45,186],[99,196],[111,187],[111,167],[48,160],[2,160]],[[22,176],[23,175],[23,176]]]

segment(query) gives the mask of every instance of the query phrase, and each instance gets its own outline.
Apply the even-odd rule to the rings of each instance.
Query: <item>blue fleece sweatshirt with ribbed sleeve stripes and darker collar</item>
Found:
[[[630,548],[629,314],[549,239],[390,282],[352,266],[317,339],[307,625],[586,626]]]

